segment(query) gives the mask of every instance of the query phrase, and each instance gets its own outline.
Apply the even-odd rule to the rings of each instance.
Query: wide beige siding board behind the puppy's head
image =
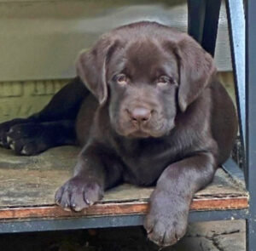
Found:
[[[0,2],[0,81],[63,79],[75,75],[74,60],[105,31],[137,20],[187,30],[185,0]],[[220,71],[230,71],[224,6],[216,49]]]

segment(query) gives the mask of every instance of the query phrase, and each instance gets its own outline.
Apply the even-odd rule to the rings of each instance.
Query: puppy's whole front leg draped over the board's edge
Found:
[[[195,191],[212,180],[216,166],[212,153],[204,152],[166,168],[150,197],[150,210],[144,221],[150,240],[169,246],[183,237]]]

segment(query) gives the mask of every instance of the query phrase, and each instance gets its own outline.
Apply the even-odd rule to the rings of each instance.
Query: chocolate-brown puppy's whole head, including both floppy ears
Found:
[[[122,26],[79,55],[79,77],[108,104],[114,130],[126,137],[161,137],[207,87],[212,57],[186,34],[156,23]],[[108,100],[108,102],[107,102]]]

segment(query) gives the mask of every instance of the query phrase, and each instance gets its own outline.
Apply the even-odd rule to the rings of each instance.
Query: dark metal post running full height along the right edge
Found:
[[[246,1],[246,177],[250,194],[247,251],[256,250],[256,1]]]

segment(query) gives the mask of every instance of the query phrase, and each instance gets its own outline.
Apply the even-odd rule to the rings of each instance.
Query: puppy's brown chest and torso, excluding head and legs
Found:
[[[84,120],[94,116],[95,121]],[[218,79],[212,81],[188,111],[179,112],[176,119],[176,127],[165,137],[127,139],[111,129],[108,111],[100,108],[90,95],[79,111],[76,132],[79,144],[86,145],[92,126],[94,137],[119,158],[121,181],[137,185],[154,185],[168,164],[188,157],[193,151],[205,151],[212,139],[217,143],[213,151],[218,151],[218,165],[230,156],[237,130],[236,111]],[[208,123],[210,131],[205,132]]]

